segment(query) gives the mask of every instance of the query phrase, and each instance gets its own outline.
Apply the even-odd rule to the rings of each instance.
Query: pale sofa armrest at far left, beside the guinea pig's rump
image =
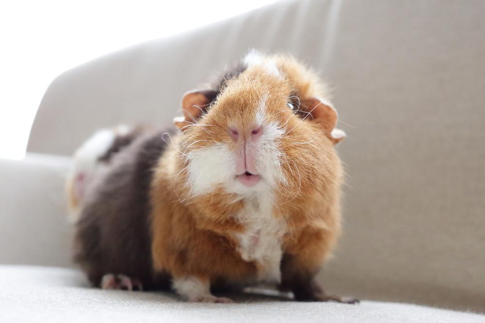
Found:
[[[70,161],[32,153],[0,159],[0,263],[73,266],[64,196]]]

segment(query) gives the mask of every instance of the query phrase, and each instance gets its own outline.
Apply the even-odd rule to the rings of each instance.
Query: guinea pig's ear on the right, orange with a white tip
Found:
[[[302,106],[303,109],[310,113],[315,122],[322,125],[326,136],[334,144],[337,144],[346,137],[343,130],[335,127],[339,116],[337,110],[328,101],[310,97],[302,101]]]

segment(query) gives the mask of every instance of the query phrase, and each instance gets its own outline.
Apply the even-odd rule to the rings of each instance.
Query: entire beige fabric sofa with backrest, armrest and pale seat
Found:
[[[56,77],[26,157],[0,160],[0,321],[485,322],[484,12],[481,0],[283,0]],[[107,125],[169,125],[183,92],[250,48],[291,53],[332,89],[344,225],[319,279],[361,303],[91,288],[72,262],[69,156]]]

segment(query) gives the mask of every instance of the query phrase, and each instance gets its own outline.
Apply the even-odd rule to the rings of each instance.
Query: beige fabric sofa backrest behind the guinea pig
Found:
[[[95,129],[168,124],[183,92],[249,48],[285,51],[333,88],[344,234],[330,292],[485,310],[485,2],[282,1],[135,45],[57,77],[28,150]]]

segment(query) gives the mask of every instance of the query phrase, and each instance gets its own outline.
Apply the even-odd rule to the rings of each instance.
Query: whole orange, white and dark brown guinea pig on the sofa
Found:
[[[270,283],[300,301],[355,303],[315,279],[340,232],[334,145],[345,137],[316,75],[253,51],[187,92],[181,110],[178,133],[113,131],[94,162],[103,167],[70,199],[75,260],[90,281],[172,287],[194,302],[230,302],[211,290]],[[113,149],[123,136],[131,140]]]

